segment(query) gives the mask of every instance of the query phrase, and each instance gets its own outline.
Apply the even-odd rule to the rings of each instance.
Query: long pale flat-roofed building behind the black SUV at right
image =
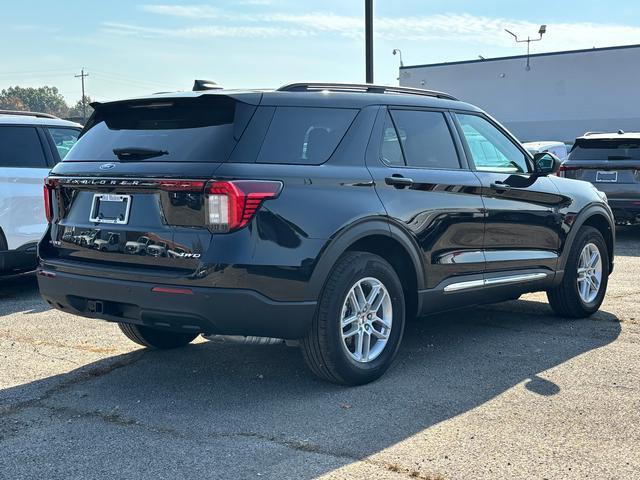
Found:
[[[521,141],[640,131],[640,45],[400,68],[400,84],[450,93]]]

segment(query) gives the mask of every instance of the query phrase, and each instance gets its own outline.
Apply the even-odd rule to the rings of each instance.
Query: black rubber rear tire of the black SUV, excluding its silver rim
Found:
[[[382,282],[389,293],[393,314],[391,332],[383,350],[375,359],[360,363],[347,353],[340,320],[342,306],[350,289],[367,277]],[[398,353],[404,325],[402,283],[393,267],[377,255],[347,252],[338,260],[327,279],[311,328],[302,339],[302,353],[307,365],[318,377],[343,385],[362,385],[376,380],[389,368]]]

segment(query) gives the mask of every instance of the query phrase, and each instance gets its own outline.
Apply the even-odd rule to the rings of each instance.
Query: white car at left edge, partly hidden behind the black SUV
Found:
[[[0,277],[35,270],[47,227],[42,181],[80,129],[52,115],[0,110]]]

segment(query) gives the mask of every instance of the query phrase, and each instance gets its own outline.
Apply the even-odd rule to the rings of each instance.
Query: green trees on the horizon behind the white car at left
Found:
[[[66,117],[69,106],[56,87],[9,87],[0,92],[0,109],[30,110]]]

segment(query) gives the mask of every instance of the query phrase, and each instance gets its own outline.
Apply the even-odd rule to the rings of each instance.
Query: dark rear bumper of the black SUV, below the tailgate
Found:
[[[153,292],[155,285],[49,272],[39,269],[44,300],[62,311],[89,318],[180,332],[301,338],[316,302],[278,302],[252,290],[189,288],[191,293]],[[185,290],[184,285],[177,285]]]

